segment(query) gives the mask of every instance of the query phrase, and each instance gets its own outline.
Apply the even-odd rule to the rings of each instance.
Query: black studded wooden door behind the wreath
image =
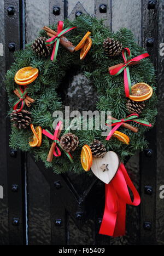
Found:
[[[100,8],[101,5],[104,5]],[[0,2],[1,33],[1,172],[0,244],[162,244],[164,208],[159,197],[164,184],[161,137],[163,123],[163,41],[164,0],[4,0]],[[54,7],[60,8],[56,15]],[[102,9],[106,9],[102,12]],[[85,174],[56,175],[35,162],[32,155],[9,149],[9,121],[5,88],[5,70],[13,62],[15,49],[24,48],[36,38],[44,25],[78,13],[105,18],[112,31],[131,29],[138,44],[151,55],[159,90],[159,119],[147,134],[149,149],[137,152],[126,164],[128,173],[140,191],[140,207],[127,207],[126,236],[98,235],[104,209],[104,184]],[[72,75],[73,76],[73,75]],[[79,77],[74,77],[79,79]],[[69,83],[71,87],[71,82]],[[163,181],[163,184],[162,184]]]

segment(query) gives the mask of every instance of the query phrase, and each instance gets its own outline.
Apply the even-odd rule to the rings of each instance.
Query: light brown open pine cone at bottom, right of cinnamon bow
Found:
[[[60,145],[66,152],[74,151],[79,145],[79,139],[73,133],[66,133],[61,136]]]

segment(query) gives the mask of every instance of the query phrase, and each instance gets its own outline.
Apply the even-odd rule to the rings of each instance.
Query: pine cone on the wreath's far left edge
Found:
[[[24,109],[17,113],[16,111],[18,111],[18,109],[13,110],[10,114],[13,126],[16,126],[19,129],[27,128],[31,124],[31,113]]]

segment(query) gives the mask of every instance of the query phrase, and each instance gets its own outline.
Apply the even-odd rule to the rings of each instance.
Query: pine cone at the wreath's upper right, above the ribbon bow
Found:
[[[122,44],[114,38],[106,38],[103,42],[104,52],[107,56],[114,57],[121,53]]]

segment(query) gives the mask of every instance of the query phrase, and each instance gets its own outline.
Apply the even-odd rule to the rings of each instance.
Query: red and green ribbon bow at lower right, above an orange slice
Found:
[[[131,115],[129,115],[123,119],[120,119],[120,120],[111,120],[110,124],[108,124],[110,121],[107,120],[107,126],[114,126],[114,128],[112,130],[110,130],[110,133],[108,134],[106,140],[109,140],[111,138],[111,136],[113,135],[115,130],[117,130],[122,125],[122,123],[135,122],[135,123],[142,124],[142,126],[151,127],[151,123],[148,123],[147,121],[144,121],[144,120],[140,120],[140,119],[138,119],[138,117],[139,117],[139,115],[134,113],[134,114],[131,114]]]

